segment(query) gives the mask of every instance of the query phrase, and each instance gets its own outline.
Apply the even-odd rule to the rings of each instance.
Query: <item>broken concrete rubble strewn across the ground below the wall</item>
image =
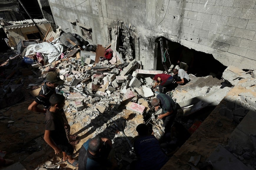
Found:
[[[36,45],[40,46],[40,44],[42,43]],[[61,43],[59,42],[59,44]],[[142,69],[141,62],[131,57],[130,47],[127,44],[129,43],[126,43],[124,59],[122,53],[116,50],[115,42],[111,43],[111,47],[114,46],[115,50],[112,51],[109,48],[110,45],[107,48],[97,45],[96,52],[84,51],[85,47],[81,48],[74,44],[69,47],[69,51],[61,51],[54,60],[49,59],[51,61],[48,62],[49,64],[37,62],[28,64],[28,67],[21,67],[19,63],[24,59],[20,55],[10,57],[4,62],[5,64],[1,64],[1,68],[4,68],[2,72],[8,75],[8,77],[1,78],[3,80],[1,98],[3,99],[8,94],[7,99],[11,99],[13,93],[10,91],[20,90],[20,87],[27,81],[25,78],[28,78],[29,81],[25,90],[29,90],[32,96],[37,96],[46,73],[57,72],[59,77],[65,81],[58,88],[58,93],[67,98],[64,110],[69,125],[72,127],[79,124],[77,126],[79,129],[76,131],[79,131],[80,136],[99,135],[112,140],[116,158],[125,167],[135,158],[135,155],[133,152],[129,152],[132,149],[124,136],[126,135],[128,139],[132,140],[137,136],[137,125],[144,123],[145,115],[153,113],[150,101],[156,96],[156,92],[151,89],[153,80],[150,79],[150,75],[163,73],[163,71]],[[41,49],[41,51],[43,50],[44,48]],[[92,49],[90,48],[90,50]],[[105,54],[107,57],[111,54],[111,57],[106,58]],[[14,72],[13,69],[17,69],[17,71]],[[211,76],[201,78],[189,76],[191,81],[187,85],[178,86],[175,91],[168,93],[170,96],[173,95],[183,115],[194,113],[205,106],[218,105],[230,90],[230,87],[221,89],[223,81]],[[225,70],[223,79],[229,81],[233,86],[237,85],[241,79],[250,79],[251,81],[241,84],[248,89],[256,82],[251,74],[242,70],[237,71],[232,66]],[[24,91],[19,92],[19,95],[17,93],[14,95],[19,98],[25,96]],[[239,123],[247,110],[255,110],[256,98],[250,93],[241,93],[239,98],[230,98],[230,101],[234,100],[236,101],[235,105],[228,104],[220,112]],[[8,103],[8,100],[2,101],[6,101],[2,107],[15,104]],[[15,99],[14,101],[18,102],[19,100]],[[157,124],[153,127],[153,131],[156,136],[158,135],[157,138],[160,138],[163,135],[161,122],[156,119],[153,121]],[[191,121],[189,126],[192,123]]]

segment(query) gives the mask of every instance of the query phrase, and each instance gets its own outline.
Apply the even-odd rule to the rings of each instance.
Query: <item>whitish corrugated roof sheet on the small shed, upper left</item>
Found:
[[[47,21],[46,19],[34,19],[35,23],[38,25],[44,24],[44,23],[50,23],[50,21]],[[30,27],[35,26],[33,21],[31,19],[26,19],[23,21],[10,21],[9,24],[12,24],[11,26],[6,26],[6,28],[13,29],[13,28],[23,28],[23,27]]]

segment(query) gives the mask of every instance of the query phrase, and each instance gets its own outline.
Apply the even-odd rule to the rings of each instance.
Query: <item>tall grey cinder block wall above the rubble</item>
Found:
[[[82,35],[70,20],[92,28],[94,43],[106,45],[108,26],[124,21],[139,36],[139,60],[156,67],[155,40],[163,36],[222,64],[256,68],[256,0],[49,0],[56,25]],[[81,4],[80,4],[81,3]],[[67,21],[69,20],[69,21]],[[137,57],[136,57],[137,58]],[[154,61],[154,62],[152,62]]]

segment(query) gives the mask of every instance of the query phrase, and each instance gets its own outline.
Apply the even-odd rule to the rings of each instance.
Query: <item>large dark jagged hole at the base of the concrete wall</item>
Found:
[[[160,47],[160,38],[157,38],[155,57],[157,59],[156,69],[164,71],[162,64],[162,55]],[[163,39],[163,60],[168,69],[174,65],[180,65],[182,61],[188,64],[188,73],[194,74],[197,77],[203,77],[207,75],[213,75],[220,79],[222,73],[227,68],[225,65],[221,64],[216,60],[212,54],[207,54],[205,52],[196,51],[194,49],[189,49],[179,43],[172,42],[164,37]]]

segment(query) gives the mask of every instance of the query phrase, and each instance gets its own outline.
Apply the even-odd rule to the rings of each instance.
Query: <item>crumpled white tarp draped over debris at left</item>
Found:
[[[57,61],[63,52],[63,46],[61,43],[50,44],[50,43],[39,43],[33,44],[26,47],[25,56],[33,55],[35,52],[40,52],[44,57],[44,63]]]

